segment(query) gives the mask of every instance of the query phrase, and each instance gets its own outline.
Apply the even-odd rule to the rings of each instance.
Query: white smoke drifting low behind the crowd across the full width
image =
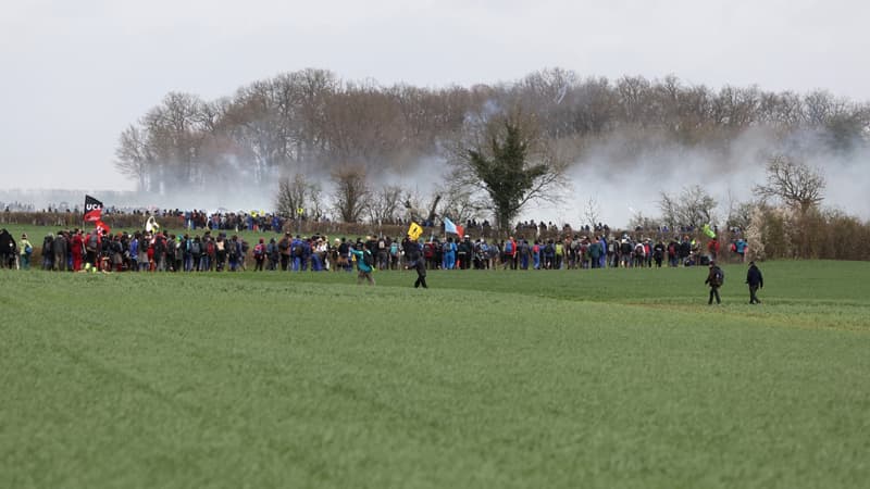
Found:
[[[779,142],[778,142],[779,141]],[[679,196],[684,188],[699,185],[716,201],[714,217],[723,225],[729,205],[754,199],[753,187],[766,183],[767,158],[780,151],[799,150],[805,161],[824,175],[824,208],[837,209],[861,221],[870,221],[870,150],[856,145],[856,150],[836,153],[825,149],[818,134],[798,134],[780,140],[763,128],[739,134],[720,148],[693,147],[656,137],[638,139],[635,135],[611,134],[591,145],[570,167],[571,188],[558,204],[531,203],[520,221],[552,222],[572,227],[592,224],[589,206],[598,221],[611,228],[624,228],[633,217],[659,217],[661,193]],[[243,165],[244,166],[244,165]],[[393,167],[371,172],[371,187],[400,186],[427,206],[434,192],[449,172],[445,160],[430,156]],[[332,201],[332,181],[322,172],[308,175],[323,191],[325,208]],[[246,185],[241,179],[226,179],[206,190],[170,192],[82,190],[0,190],[0,202],[21,203],[36,210],[47,206],[82,208],[85,193],[95,195],[108,208],[119,209],[199,209],[207,211],[271,211],[274,209],[278,183]],[[489,218],[490,216],[482,216]]]

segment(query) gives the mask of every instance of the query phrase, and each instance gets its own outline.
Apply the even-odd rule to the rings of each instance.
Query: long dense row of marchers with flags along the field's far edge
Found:
[[[331,239],[260,229],[263,236],[249,242],[232,229],[200,230],[191,226],[184,234],[159,229],[104,234],[74,228],[49,233],[41,246],[35,246],[27,236],[16,240],[2,229],[0,266],[72,272],[351,271],[353,251],[368,249],[373,268],[402,269],[413,265],[408,259],[413,246],[426,269],[583,269],[707,265],[726,252],[742,261],[747,251],[743,239],[723,250],[717,238],[699,240],[689,235],[664,240],[627,233],[562,233],[558,238],[445,236],[409,242],[407,237]]]

